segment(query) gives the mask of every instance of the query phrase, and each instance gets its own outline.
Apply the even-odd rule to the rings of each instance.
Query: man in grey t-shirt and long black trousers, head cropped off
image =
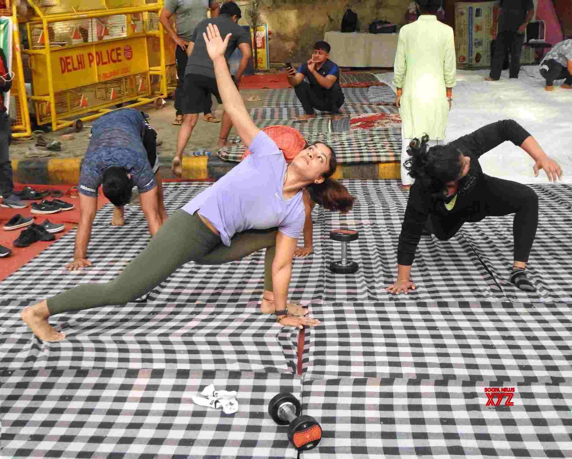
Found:
[[[222,1],[222,0],[221,0]],[[206,12],[210,10],[210,16],[219,15],[220,4],[217,0],[165,0],[159,21],[176,43],[175,59],[177,61],[177,91],[175,93],[175,110],[177,113],[173,121],[174,125],[182,123],[181,100],[183,98],[183,82],[185,81],[185,67],[187,61],[186,47],[193,35],[194,27],[202,19],[206,18]],[[177,30],[173,29],[171,18],[177,19]],[[205,121],[219,122],[212,111],[212,100],[205,99],[203,108]]]

